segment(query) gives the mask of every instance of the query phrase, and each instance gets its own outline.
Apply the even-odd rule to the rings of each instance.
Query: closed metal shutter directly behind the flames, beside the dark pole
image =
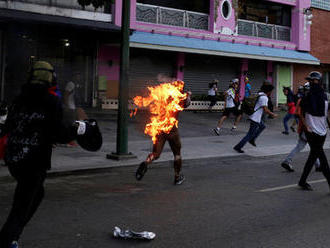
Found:
[[[157,84],[157,75],[164,73],[172,76],[175,68],[176,53],[131,49],[129,69],[129,96],[144,95],[147,86]]]

